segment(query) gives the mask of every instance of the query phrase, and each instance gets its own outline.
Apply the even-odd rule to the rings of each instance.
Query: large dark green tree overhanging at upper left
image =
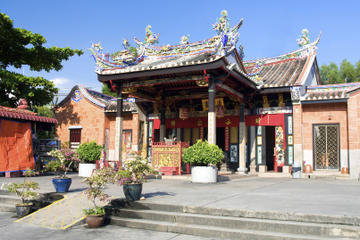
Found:
[[[14,107],[20,98],[25,98],[30,107],[46,105],[58,92],[45,78],[24,76],[8,68],[29,66],[31,71],[59,71],[63,60],[83,54],[69,47],[46,48],[45,43],[42,35],[14,28],[9,16],[0,13],[0,105]]]

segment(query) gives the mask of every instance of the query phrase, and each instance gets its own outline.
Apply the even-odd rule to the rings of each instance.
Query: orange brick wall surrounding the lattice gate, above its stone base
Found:
[[[313,124],[336,123],[340,126],[340,149],[348,149],[347,145],[347,104],[322,103],[302,105],[303,148],[313,150]]]

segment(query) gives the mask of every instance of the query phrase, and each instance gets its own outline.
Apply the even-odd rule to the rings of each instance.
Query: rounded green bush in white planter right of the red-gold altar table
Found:
[[[222,150],[206,140],[198,140],[194,145],[184,150],[182,161],[194,166],[215,166],[224,158]]]

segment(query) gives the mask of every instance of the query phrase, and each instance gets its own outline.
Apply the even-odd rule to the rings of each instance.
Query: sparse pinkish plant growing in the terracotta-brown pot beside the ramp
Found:
[[[108,202],[110,196],[103,192],[103,188],[114,181],[115,171],[112,168],[101,168],[96,170],[90,177],[83,182],[88,185],[84,191],[86,197],[92,201],[94,207],[83,209],[85,215],[104,215],[104,207],[98,206],[97,201]]]

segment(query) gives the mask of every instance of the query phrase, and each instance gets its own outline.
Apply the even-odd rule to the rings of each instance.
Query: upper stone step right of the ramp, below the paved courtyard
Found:
[[[183,206],[172,204],[158,204],[149,202],[133,202],[128,204],[123,201],[113,202],[113,209],[118,208],[147,209],[165,212],[193,213],[212,216],[244,217],[269,219],[279,221],[295,221],[304,223],[322,223],[322,224],[339,224],[348,226],[360,226],[360,217],[353,216],[328,216],[317,214],[274,212],[274,211],[255,211],[248,209],[222,209],[209,208],[200,206]],[[116,214],[115,214],[116,215]]]

